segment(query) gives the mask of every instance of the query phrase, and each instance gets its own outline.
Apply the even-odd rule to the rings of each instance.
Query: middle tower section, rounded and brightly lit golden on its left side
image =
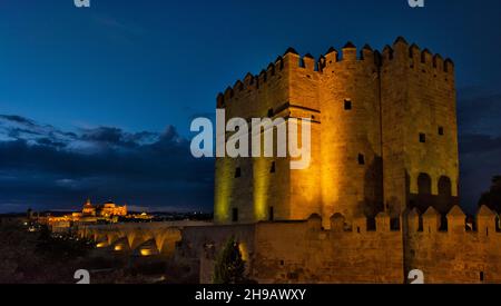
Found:
[[[381,211],[379,75],[370,47],[327,53],[322,82],[322,217]],[[326,225],[328,227],[328,225]]]

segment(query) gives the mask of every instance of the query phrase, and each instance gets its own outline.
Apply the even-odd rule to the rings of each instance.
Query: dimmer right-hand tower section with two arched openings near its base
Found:
[[[456,204],[459,180],[452,61],[397,39],[383,50],[381,75],[389,211],[431,205],[446,213]]]

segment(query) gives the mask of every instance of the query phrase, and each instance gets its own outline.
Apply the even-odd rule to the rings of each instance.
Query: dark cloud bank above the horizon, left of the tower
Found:
[[[0,115],[0,211],[75,209],[87,197],[150,210],[210,210],[214,160],[195,159],[173,126],[63,131]]]

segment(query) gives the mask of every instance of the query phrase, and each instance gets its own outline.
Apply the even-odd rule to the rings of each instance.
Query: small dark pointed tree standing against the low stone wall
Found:
[[[216,258],[214,284],[242,284],[246,280],[244,275],[245,261],[238,243],[232,237]]]

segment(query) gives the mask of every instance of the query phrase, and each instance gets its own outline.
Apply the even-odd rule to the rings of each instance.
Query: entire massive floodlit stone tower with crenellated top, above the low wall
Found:
[[[456,201],[453,65],[403,38],[382,53],[348,42],[318,60],[288,49],[220,93],[217,107],[226,120],[311,119],[312,162],[291,170],[289,158],[217,158],[216,223],[317,214],[330,227],[336,213],[350,221],[405,207],[445,213]]]

